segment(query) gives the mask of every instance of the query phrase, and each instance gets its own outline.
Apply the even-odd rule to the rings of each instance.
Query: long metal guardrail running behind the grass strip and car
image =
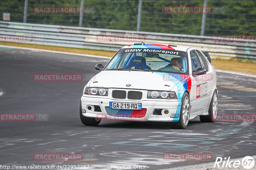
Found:
[[[209,36],[167,34],[158,32],[137,32],[125,30],[111,30],[100,28],[84,28],[60,25],[28,24],[0,21],[0,35],[28,35],[30,40],[15,42],[40,44],[49,46],[63,46],[88,48],[97,50],[117,51],[124,45],[138,41],[154,44],[179,44],[195,46],[207,51],[211,57],[237,57],[256,59],[256,43],[249,42],[214,42]],[[129,36],[140,37],[125,41]],[[105,38],[102,40],[102,37]],[[125,37],[123,41],[117,40]],[[11,41],[11,39],[0,41]]]

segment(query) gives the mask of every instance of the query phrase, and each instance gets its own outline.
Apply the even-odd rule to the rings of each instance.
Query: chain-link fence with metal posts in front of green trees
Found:
[[[80,26],[91,28],[206,36],[256,34],[255,0],[0,0],[0,14],[12,22],[36,24],[79,26],[80,18]]]

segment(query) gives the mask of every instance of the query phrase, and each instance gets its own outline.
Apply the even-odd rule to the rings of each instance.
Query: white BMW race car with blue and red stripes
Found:
[[[190,46],[135,43],[122,47],[85,85],[80,118],[164,121],[184,129],[217,117],[216,73],[208,53]]]

